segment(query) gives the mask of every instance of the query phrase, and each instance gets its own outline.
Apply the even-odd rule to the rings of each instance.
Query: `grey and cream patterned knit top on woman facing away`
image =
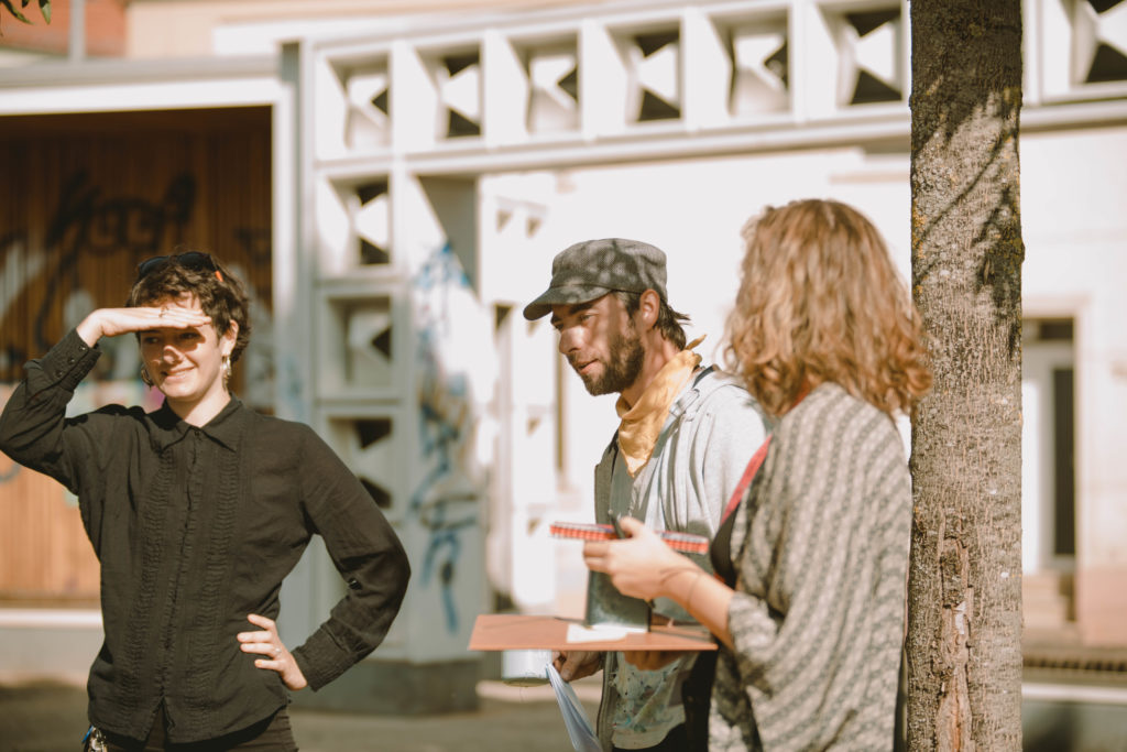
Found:
[[[735,513],[710,750],[891,750],[911,479],[893,421],[836,384],[782,417]]]

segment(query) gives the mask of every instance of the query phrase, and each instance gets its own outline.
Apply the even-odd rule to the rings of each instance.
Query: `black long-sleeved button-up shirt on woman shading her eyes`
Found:
[[[245,728],[286,702],[236,635],[278,613],[282,580],[313,533],[344,598],[292,651],[318,689],[371,653],[399,611],[409,567],[356,477],[308,426],[236,398],[195,427],[166,404],[65,417],[99,350],[71,331],[0,416],[0,449],[79,498],[101,563],[105,643],[90,669],[90,720],[144,738],[163,701],[171,742]]]

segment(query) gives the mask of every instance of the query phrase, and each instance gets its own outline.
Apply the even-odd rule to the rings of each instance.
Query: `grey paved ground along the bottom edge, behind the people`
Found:
[[[1027,672],[1022,726],[1026,752],[1127,750],[1127,681],[1062,671]],[[1032,682],[1030,682],[1032,680]],[[577,682],[589,718],[596,679]],[[292,708],[302,752],[571,752],[548,687],[478,684],[480,708],[442,716],[345,715]],[[86,690],[77,683],[0,683],[0,752],[78,752],[86,728]]]

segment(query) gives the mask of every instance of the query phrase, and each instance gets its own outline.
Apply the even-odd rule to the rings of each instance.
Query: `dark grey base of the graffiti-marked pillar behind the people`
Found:
[[[478,660],[446,663],[362,661],[318,692],[293,695],[299,708],[418,716],[478,709]]]

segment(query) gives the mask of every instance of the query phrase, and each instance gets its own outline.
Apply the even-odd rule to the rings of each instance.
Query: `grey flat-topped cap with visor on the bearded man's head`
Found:
[[[552,312],[552,306],[573,306],[602,298],[609,292],[654,290],[665,293],[665,254],[640,240],[603,238],[565,248],[552,260],[548,290],[524,307],[524,318],[534,321]]]

